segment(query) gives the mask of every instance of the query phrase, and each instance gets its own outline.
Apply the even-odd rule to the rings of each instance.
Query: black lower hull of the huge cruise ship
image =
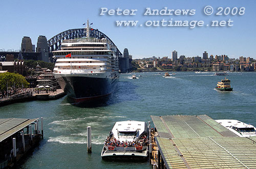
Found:
[[[118,78],[61,76],[57,80],[61,89],[78,103],[111,94]]]

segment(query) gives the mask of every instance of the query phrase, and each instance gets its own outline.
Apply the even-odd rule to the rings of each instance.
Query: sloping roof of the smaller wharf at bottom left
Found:
[[[0,142],[38,119],[0,119]]]

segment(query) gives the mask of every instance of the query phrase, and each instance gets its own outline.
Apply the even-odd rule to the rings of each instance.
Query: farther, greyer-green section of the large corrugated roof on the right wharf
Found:
[[[206,115],[201,116],[152,116],[152,120],[160,137],[207,137],[207,136],[233,136],[229,131],[215,120]]]

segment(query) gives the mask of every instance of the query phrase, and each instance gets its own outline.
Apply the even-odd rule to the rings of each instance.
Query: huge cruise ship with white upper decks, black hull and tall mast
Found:
[[[61,89],[75,102],[100,98],[112,93],[119,79],[117,47],[105,39],[87,37],[63,40],[53,51],[53,74]]]

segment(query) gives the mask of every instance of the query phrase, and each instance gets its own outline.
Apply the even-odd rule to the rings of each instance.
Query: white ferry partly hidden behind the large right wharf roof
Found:
[[[238,120],[215,120],[240,137],[256,136],[256,128]]]

